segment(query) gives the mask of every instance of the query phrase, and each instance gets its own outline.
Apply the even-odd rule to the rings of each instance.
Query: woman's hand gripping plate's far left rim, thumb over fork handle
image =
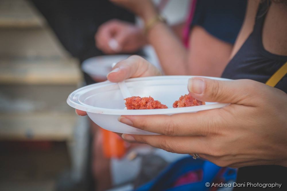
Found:
[[[118,62],[113,70],[108,73],[107,78],[111,82],[121,82],[125,79],[135,77],[159,76],[160,71],[141,56],[133,55],[129,58]],[[86,112],[77,110],[79,116],[87,115]]]

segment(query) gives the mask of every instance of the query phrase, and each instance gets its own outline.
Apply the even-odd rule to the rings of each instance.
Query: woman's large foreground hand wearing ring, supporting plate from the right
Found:
[[[194,77],[189,92],[198,100],[230,103],[197,113],[121,116],[120,122],[162,135],[126,135],[174,153],[197,153],[219,166],[287,166],[287,94],[253,80]]]

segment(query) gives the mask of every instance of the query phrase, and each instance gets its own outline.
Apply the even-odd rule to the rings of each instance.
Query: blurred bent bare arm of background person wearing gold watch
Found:
[[[121,5],[144,20],[147,24],[157,15],[151,0],[111,0]],[[146,38],[158,55],[166,75],[205,75],[219,77],[228,63],[232,44],[212,36],[203,28],[191,30],[188,50],[181,42],[183,24],[169,27],[163,22],[156,22],[148,31]],[[173,31],[173,30],[174,31]]]

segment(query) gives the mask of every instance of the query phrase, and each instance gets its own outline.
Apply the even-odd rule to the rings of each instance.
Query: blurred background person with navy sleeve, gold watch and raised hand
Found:
[[[246,0],[193,0],[186,23],[166,25],[152,1],[112,0],[137,14],[145,28],[120,20],[99,27],[96,46],[107,54],[151,44],[166,75],[220,77],[242,26]],[[116,47],[109,46],[115,40]]]

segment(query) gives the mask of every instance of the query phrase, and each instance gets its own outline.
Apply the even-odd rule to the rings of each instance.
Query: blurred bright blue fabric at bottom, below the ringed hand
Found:
[[[203,170],[203,179],[201,182],[195,182],[190,184],[185,184],[177,187],[173,187],[174,182],[181,176],[187,174],[191,171]],[[146,190],[209,190],[209,187],[205,186],[206,182],[213,182],[214,178],[218,172],[222,169],[209,161],[204,161],[201,159],[194,160],[192,157],[186,157],[179,161],[172,163],[168,168],[166,168],[158,177],[154,180],[148,182],[147,184],[136,189],[136,191],[146,191]],[[230,180],[236,180],[236,169],[226,168],[226,171],[220,177],[224,182]]]

